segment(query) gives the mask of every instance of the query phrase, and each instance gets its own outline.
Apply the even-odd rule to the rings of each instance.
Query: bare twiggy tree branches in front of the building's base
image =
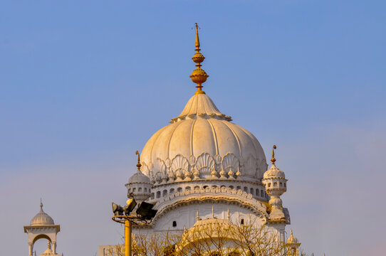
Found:
[[[197,222],[199,223],[199,222]],[[246,221],[202,221],[189,230],[133,235],[132,254],[137,256],[277,256],[286,247],[278,235],[265,225]],[[106,256],[124,256],[125,245],[115,245]],[[306,256],[303,252],[301,256]]]

